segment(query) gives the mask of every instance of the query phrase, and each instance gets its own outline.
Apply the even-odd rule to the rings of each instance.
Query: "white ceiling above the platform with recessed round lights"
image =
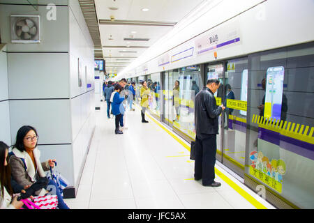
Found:
[[[99,20],[110,20],[110,16],[114,16],[115,20],[179,22],[203,1],[95,0],[95,4],[98,23]],[[110,7],[118,8],[118,10],[110,10]],[[142,8],[149,8],[149,11],[143,12]],[[150,47],[173,29],[172,26],[98,25],[103,46],[125,47],[103,47],[107,73],[121,72],[147,50],[147,48],[133,48],[132,46]],[[113,38],[113,40],[108,40],[108,38]],[[149,38],[149,41],[126,41],[124,38]],[[128,45],[130,47],[126,47]]]

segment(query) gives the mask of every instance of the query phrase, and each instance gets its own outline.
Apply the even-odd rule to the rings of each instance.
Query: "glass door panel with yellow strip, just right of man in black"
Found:
[[[225,63],[223,105],[223,164],[244,177],[248,59]]]

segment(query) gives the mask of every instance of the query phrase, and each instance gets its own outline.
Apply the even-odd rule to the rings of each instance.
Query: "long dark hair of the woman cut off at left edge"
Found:
[[[1,200],[4,197],[4,187],[6,191],[12,196],[13,189],[11,187],[11,169],[10,165],[4,166],[6,160],[6,151],[8,151],[8,145],[3,141],[0,141],[0,184],[1,184]],[[8,159],[7,159],[8,162]]]

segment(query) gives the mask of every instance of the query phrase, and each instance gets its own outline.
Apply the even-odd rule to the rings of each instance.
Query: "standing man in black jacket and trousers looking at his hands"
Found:
[[[220,86],[218,79],[209,79],[207,85],[195,96],[195,180],[202,179],[202,185],[219,187],[214,181],[216,162],[216,134],[218,134],[218,116],[223,105],[216,105],[214,93]]]

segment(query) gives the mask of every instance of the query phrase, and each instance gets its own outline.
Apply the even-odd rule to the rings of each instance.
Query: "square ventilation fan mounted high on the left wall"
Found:
[[[39,15],[11,15],[12,43],[40,43]]]

